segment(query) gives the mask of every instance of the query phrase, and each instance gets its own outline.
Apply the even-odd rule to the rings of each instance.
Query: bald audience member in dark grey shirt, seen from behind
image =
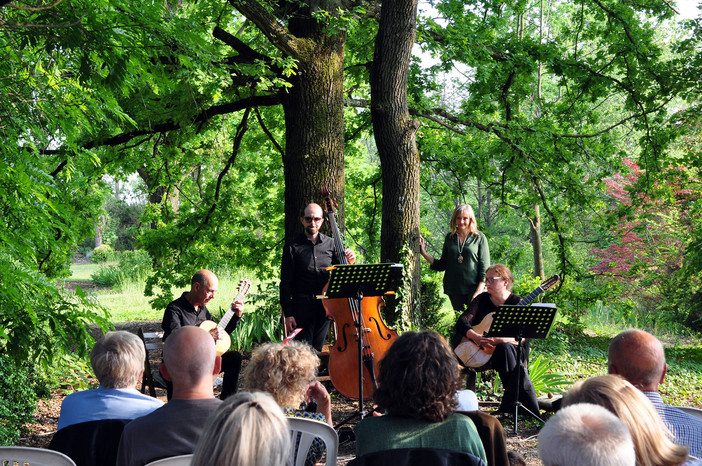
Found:
[[[220,372],[215,342],[205,330],[175,330],[163,346],[161,374],[173,383],[173,397],[163,407],[133,420],[124,429],[117,464],[143,466],[195,450],[205,422],[222,403],[212,381]]]

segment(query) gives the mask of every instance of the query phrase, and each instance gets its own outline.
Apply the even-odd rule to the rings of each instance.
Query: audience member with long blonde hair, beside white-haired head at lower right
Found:
[[[637,466],[677,466],[687,460],[687,447],[676,445],[670,431],[643,393],[618,375],[601,375],[578,382],[563,406],[593,403],[614,413],[629,429]]]

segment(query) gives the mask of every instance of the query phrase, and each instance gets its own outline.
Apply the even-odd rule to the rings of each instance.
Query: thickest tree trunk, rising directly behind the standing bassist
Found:
[[[284,56],[296,60],[292,86],[281,94],[285,112],[285,240],[302,231],[300,210],[321,202],[323,184],[329,186],[340,207],[344,201],[344,53],[346,34],[330,32],[314,12],[339,12],[327,2],[305,4],[281,1],[284,17],[276,17],[256,0],[229,3],[266,36]],[[276,9],[274,9],[276,10]],[[294,12],[294,13],[293,13]],[[287,28],[284,26],[287,21]],[[339,211],[343,231],[343,208]]]

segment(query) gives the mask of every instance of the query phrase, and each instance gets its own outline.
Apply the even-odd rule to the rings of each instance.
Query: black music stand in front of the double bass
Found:
[[[383,296],[394,293],[402,280],[402,264],[341,264],[329,267],[329,284],[322,296],[325,298],[348,298],[358,300],[358,412],[339,422],[335,428],[346,424],[357,415],[363,419],[363,339],[361,338],[363,316],[361,301],[364,296]]]

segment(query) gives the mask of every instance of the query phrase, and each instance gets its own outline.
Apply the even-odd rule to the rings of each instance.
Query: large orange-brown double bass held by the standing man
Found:
[[[348,264],[334,213],[331,191],[322,187],[322,196],[334,238],[334,251],[342,264]],[[324,287],[326,291],[327,286]],[[363,398],[372,397],[378,388],[378,363],[397,332],[388,328],[380,315],[385,301],[380,296],[329,298],[322,300],[327,315],[334,321],[334,345],[329,348],[329,377],[342,395],[360,398],[358,339],[361,339]],[[362,316],[363,322],[359,322]],[[359,331],[360,330],[360,331]]]

